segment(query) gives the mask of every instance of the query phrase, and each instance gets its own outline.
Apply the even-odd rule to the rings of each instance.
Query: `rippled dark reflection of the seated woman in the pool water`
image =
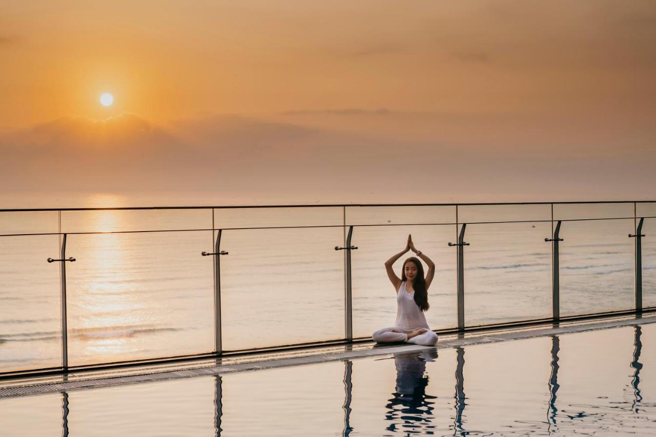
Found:
[[[437,356],[436,350],[394,356],[396,391],[392,393],[394,398],[385,406],[387,408],[385,419],[395,423],[386,427],[388,430],[415,434],[420,432],[419,428],[422,428],[422,425],[425,428],[433,428],[430,417],[434,402],[428,400],[436,399],[436,396],[426,394],[428,376],[424,376],[424,372],[426,361],[433,361]]]

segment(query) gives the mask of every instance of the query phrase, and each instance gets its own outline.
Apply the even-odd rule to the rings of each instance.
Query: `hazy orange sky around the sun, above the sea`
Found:
[[[653,0],[0,0],[0,59],[5,198],[656,198]]]

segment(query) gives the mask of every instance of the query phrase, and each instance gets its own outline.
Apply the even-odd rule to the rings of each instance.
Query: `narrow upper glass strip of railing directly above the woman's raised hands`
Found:
[[[346,226],[455,223],[455,206],[346,207]]]

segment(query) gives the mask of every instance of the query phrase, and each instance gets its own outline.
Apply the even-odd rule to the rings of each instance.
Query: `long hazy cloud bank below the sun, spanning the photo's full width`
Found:
[[[66,117],[0,136],[0,184],[10,191],[186,190],[298,203],[367,202],[374,199],[369,193],[376,201],[438,201],[446,194],[459,201],[548,200],[562,198],[553,194],[562,190],[575,193],[568,187],[588,187],[588,198],[633,197],[634,187],[648,192],[656,183],[653,131],[629,129],[617,117],[581,123],[529,114],[366,117],[356,110],[327,118],[332,124],[317,127],[243,115],[165,126],[134,114]],[[359,130],[338,129],[348,123]]]

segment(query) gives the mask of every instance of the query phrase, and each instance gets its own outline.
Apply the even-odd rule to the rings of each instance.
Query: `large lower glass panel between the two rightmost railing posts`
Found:
[[[560,316],[634,305],[634,220],[581,220],[560,227]]]

